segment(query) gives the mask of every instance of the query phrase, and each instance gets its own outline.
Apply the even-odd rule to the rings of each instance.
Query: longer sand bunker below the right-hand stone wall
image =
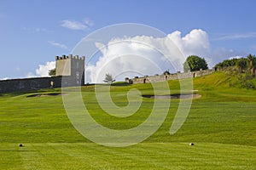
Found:
[[[168,95],[142,95],[149,99],[197,99],[201,94],[168,94]]]

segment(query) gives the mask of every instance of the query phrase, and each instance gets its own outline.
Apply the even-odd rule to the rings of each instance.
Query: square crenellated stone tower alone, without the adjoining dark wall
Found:
[[[72,54],[55,57],[55,76],[62,76],[69,85],[84,85],[85,57]],[[70,84],[72,83],[72,84]]]

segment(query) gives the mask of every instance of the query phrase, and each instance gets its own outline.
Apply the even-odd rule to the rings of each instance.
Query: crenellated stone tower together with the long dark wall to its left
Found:
[[[84,85],[84,56],[72,54],[55,57],[55,77],[19,78],[0,81],[0,94],[40,88],[61,88]]]

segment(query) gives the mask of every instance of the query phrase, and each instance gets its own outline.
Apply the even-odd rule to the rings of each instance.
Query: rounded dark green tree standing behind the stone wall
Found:
[[[200,58],[196,55],[190,55],[186,61],[183,63],[183,71],[200,71],[207,70],[207,61],[204,58]]]

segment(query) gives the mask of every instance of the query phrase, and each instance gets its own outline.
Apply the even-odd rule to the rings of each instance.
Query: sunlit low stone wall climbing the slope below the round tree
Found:
[[[167,80],[177,80],[177,79],[184,79],[189,77],[203,77],[215,72],[215,68],[212,70],[201,70],[201,71],[192,71],[192,72],[177,72],[174,74],[166,74],[166,75],[155,75],[151,77],[134,77],[129,79],[128,77],[125,78],[125,82],[128,83],[148,83],[148,82],[163,82]]]

